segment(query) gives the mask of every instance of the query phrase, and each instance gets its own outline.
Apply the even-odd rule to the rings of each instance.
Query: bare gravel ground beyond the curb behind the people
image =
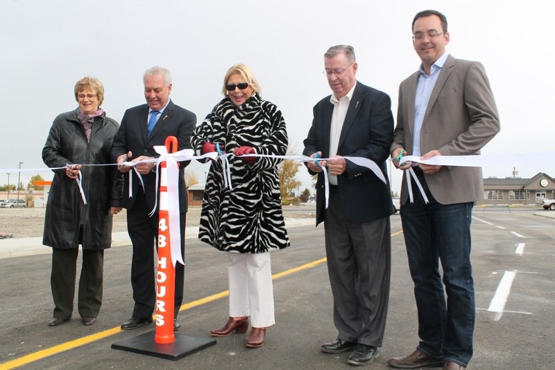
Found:
[[[45,208],[0,208],[0,237],[42,237],[44,229]],[[314,210],[284,209],[286,219],[314,217]],[[126,210],[113,218],[114,233],[127,231]],[[198,226],[200,220],[200,206],[189,207],[187,212],[187,227]]]

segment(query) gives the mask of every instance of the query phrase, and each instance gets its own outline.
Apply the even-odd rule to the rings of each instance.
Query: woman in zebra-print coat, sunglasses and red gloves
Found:
[[[229,319],[214,337],[246,333],[246,346],[264,344],[266,327],[275,323],[270,249],[289,246],[283,219],[280,159],[244,154],[285,155],[287,131],[280,110],[260,97],[260,87],[246,65],[225,74],[223,94],[191,137],[197,154],[216,151],[229,157],[232,190],[225,187],[221,161],[212,162],[206,180],[199,239],[228,253]]]

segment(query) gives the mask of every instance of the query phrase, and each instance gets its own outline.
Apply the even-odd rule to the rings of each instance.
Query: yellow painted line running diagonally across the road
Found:
[[[394,237],[395,235],[399,235],[400,233],[402,233],[402,230],[398,231],[397,233],[391,234],[391,236]],[[294,274],[298,271],[302,271],[302,270],[305,270],[305,269],[310,269],[311,267],[318,266],[318,264],[323,264],[326,261],[327,261],[327,258],[321,258],[320,260],[309,262],[309,263],[303,264],[302,266],[299,266],[299,267],[293,267],[293,269],[289,269],[287,271],[282,271],[282,272],[279,272],[278,274],[272,275],[272,279],[282,278],[283,276],[291,275],[291,274]],[[207,296],[205,298],[200,298],[200,299],[197,299],[196,301],[192,301],[192,302],[189,302],[189,303],[185,303],[184,305],[181,305],[180,311],[190,310],[191,308],[195,308],[199,305],[205,305],[207,303],[217,301],[217,300],[219,300],[221,298],[225,298],[226,296],[229,296],[229,295],[230,295],[229,290],[226,290],[225,292],[219,292],[219,293],[216,293],[216,294],[212,294],[212,296]],[[11,360],[11,361],[8,361],[8,362],[4,362],[3,364],[0,364],[0,370],[15,369],[16,367],[20,367],[20,366],[23,366],[25,364],[30,364],[31,362],[42,360],[43,358],[47,358],[51,355],[57,355],[58,353],[69,351],[70,349],[74,349],[74,348],[77,348],[79,346],[84,346],[85,344],[90,344],[92,342],[96,342],[97,340],[104,339],[104,338],[110,337],[112,335],[116,335],[117,333],[120,333],[121,331],[123,331],[123,330],[121,330],[121,328],[119,326],[116,326],[115,328],[104,330],[100,333],[87,335],[86,337],[81,337],[79,339],[75,339],[75,340],[72,340],[72,341],[69,341],[69,342],[58,344],[57,346],[53,346],[53,347],[46,348],[46,349],[43,349],[43,350],[40,350],[40,351],[36,351],[36,352],[30,353],[28,355],[22,356],[20,358],[16,358],[15,360]]]

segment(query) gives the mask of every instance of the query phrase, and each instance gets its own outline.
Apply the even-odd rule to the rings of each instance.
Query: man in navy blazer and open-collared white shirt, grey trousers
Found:
[[[316,183],[316,225],[324,222],[327,269],[334,296],[337,339],[322,345],[326,353],[352,351],[350,364],[367,364],[382,346],[389,298],[393,213],[389,185],[368,168],[343,156],[373,160],[387,178],[393,140],[391,100],[384,92],[357,82],[351,46],[324,54],[325,74],[333,94],[314,106],[314,119],[303,154]],[[333,158],[333,159],[331,159]],[[330,183],[325,209],[325,178]]]

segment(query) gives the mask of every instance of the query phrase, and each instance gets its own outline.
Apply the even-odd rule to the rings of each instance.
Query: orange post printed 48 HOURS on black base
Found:
[[[169,136],[166,139],[168,153],[177,150],[178,140]],[[179,167],[179,163],[178,163]],[[173,343],[173,317],[176,287],[176,267],[171,262],[169,237],[169,203],[166,161],[160,164],[160,212],[158,212],[158,262],[156,271],[156,333],[154,342]]]

